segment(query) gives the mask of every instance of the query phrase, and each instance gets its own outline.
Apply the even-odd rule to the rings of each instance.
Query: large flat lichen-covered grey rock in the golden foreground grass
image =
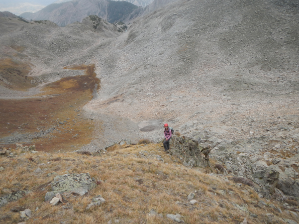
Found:
[[[45,201],[51,200],[57,193],[72,192],[81,196],[97,187],[89,173],[65,174],[56,176],[51,183],[52,192],[47,192]]]

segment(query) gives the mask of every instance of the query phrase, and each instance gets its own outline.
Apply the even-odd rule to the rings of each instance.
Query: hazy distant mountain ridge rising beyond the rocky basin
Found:
[[[175,0],[153,0],[147,6],[137,7],[128,1],[109,0],[72,0],[53,3],[37,12],[24,12],[20,16],[28,20],[50,20],[59,26],[79,21],[89,15],[114,23],[132,22],[138,16],[145,15]]]

